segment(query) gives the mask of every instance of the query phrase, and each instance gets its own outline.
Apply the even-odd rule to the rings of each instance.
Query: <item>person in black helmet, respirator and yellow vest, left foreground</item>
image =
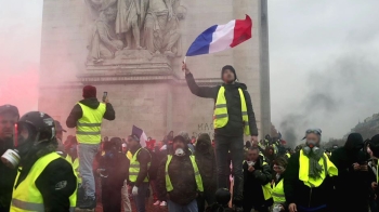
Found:
[[[54,120],[40,111],[27,112],[16,123],[15,149],[1,157],[18,169],[10,211],[74,211],[77,177],[73,165],[55,153],[55,132]]]

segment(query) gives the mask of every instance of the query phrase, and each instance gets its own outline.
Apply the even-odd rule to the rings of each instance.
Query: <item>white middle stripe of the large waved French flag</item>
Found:
[[[231,21],[225,25],[219,25],[212,36],[212,42],[209,44],[209,54],[231,49],[234,39],[234,27],[236,21]]]

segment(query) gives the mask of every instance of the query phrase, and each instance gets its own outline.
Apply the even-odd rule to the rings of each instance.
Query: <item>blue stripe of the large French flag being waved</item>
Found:
[[[195,56],[200,54],[209,54],[209,47],[212,42],[213,32],[218,28],[218,25],[209,27],[202,34],[200,34],[195,41],[191,44],[186,56]]]

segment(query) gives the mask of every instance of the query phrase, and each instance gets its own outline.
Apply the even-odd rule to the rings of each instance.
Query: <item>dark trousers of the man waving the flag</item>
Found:
[[[230,163],[227,163],[227,154],[231,151],[233,165],[234,187],[233,200],[235,203],[243,201],[243,161],[244,161],[244,135],[224,136],[214,135],[215,141],[215,161],[218,165],[218,187],[228,188]]]

